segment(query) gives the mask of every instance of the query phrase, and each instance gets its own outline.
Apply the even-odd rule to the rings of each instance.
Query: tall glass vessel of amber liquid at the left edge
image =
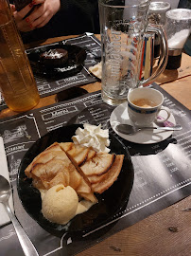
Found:
[[[40,101],[8,0],[0,1],[0,89],[9,109],[16,112],[27,111]]]

